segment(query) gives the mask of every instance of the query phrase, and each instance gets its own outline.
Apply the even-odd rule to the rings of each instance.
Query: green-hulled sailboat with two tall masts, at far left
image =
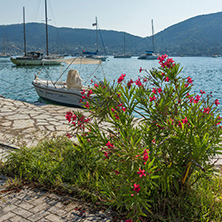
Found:
[[[57,59],[63,58],[59,55],[49,55],[48,50],[48,18],[47,18],[47,1],[45,0],[45,22],[46,22],[46,53],[40,51],[26,51],[26,31],[25,31],[25,7],[23,7],[23,33],[24,33],[24,55],[18,57],[10,57],[10,60],[17,66],[39,66],[39,65],[59,65]],[[47,60],[49,59],[49,60]]]

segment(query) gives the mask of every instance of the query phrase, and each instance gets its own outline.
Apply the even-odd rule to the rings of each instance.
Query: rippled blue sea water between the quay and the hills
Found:
[[[194,82],[193,91],[200,94],[200,90],[206,93],[212,92],[213,98],[221,103],[218,108],[222,109],[222,57],[172,57],[180,63],[183,70],[181,76],[190,76]],[[136,57],[124,59],[108,57],[102,65],[67,65],[63,66],[15,66],[9,58],[0,59],[0,95],[5,98],[20,100],[28,103],[38,104],[39,97],[32,86],[35,75],[42,79],[57,80],[66,69],[77,69],[83,82],[89,85],[92,80],[103,80],[104,76],[110,82],[118,79],[121,74],[126,74],[127,79],[137,79],[138,76],[146,75],[140,73],[139,69],[151,70],[158,68],[158,60],[138,60]],[[61,79],[66,80],[67,72]]]

